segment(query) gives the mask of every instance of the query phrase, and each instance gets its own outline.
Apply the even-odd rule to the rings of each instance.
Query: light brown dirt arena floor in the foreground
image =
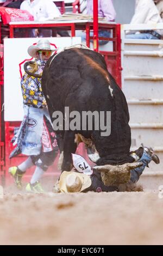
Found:
[[[0,245],[163,244],[158,191],[15,192],[11,185],[0,199]]]

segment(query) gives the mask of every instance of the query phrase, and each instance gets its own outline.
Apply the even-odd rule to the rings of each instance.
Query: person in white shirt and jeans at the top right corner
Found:
[[[153,0],[136,0],[135,14],[130,24],[161,23],[161,17]],[[128,31],[127,39],[162,39],[163,30]]]

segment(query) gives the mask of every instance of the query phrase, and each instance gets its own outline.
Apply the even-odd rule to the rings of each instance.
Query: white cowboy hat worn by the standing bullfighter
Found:
[[[40,50],[46,50],[46,51],[56,51],[51,49],[51,44],[47,39],[40,39],[36,45],[31,45],[28,47],[28,54],[33,57],[36,58],[36,52],[40,51]]]

